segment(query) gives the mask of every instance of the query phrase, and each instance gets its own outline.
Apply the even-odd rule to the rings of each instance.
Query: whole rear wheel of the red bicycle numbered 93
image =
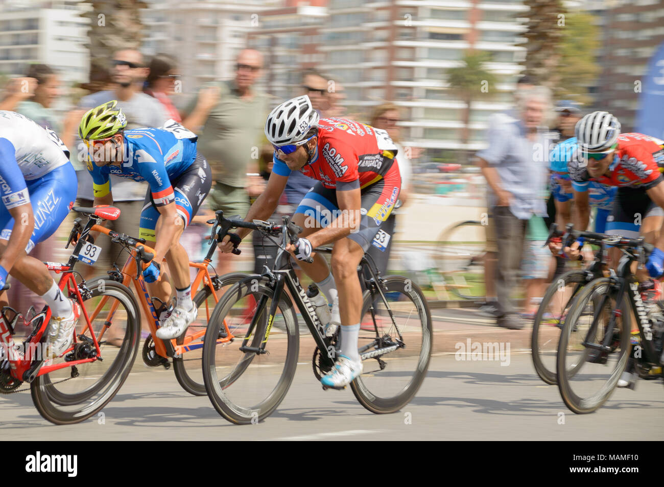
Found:
[[[90,289],[91,295],[82,305],[90,316],[94,337],[101,335],[107,322],[111,323],[99,342],[102,360],[54,370],[37,377],[30,387],[39,413],[57,425],[84,421],[113,399],[129,375],[139,348],[140,314],[131,291],[110,279],[90,283],[96,287]],[[84,316],[76,324],[76,336],[74,350],[54,359],[52,364],[61,364],[72,354],[83,358],[86,349],[94,350]],[[120,346],[108,342],[111,336]]]

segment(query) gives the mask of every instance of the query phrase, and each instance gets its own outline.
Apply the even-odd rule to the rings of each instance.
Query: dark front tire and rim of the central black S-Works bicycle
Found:
[[[269,360],[270,356],[272,356],[270,353],[262,355],[257,355],[252,352],[245,353],[244,355],[240,355],[242,358],[240,358],[238,364],[232,366],[230,373],[223,378],[219,378],[216,372],[216,354],[219,350],[222,350],[217,347],[216,337],[218,337],[222,326],[224,326],[224,320],[228,318],[228,322],[231,322],[232,315],[229,317],[229,313],[232,310],[233,305],[239,303],[248,295],[254,295],[255,298],[258,297],[258,299],[256,299],[257,303],[262,296],[268,297],[268,300],[271,301],[272,293],[273,289],[270,287],[270,280],[267,277],[256,275],[255,279],[236,283],[228,289],[214,308],[212,316],[210,316],[210,325],[207,328],[203,346],[203,379],[205,382],[205,389],[214,409],[216,409],[222,417],[237,425],[256,423],[272,414],[278,405],[280,405],[286,396],[286,393],[288,393],[288,389],[293,381],[293,376],[295,376],[297,356],[299,354],[299,329],[297,327],[297,317],[295,316],[293,303],[286,293],[282,293],[278,305],[278,311],[280,311],[283,316],[283,325],[287,334],[285,343],[286,358],[283,361],[283,370],[280,373],[278,382],[270,393],[268,393],[266,397],[259,399],[258,403],[252,405],[240,405],[234,403],[235,399],[229,396],[229,392],[231,392],[229,388],[232,385],[236,385],[236,381],[238,381],[241,376],[244,378],[244,376],[247,375],[246,371],[250,365],[262,367],[260,361]],[[268,304],[266,304],[266,309]],[[254,314],[255,313],[256,311],[254,311]],[[265,314],[266,311],[262,311],[259,315],[259,320],[260,316],[264,316]],[[231,325],[232,323],[228,325],[229,328]],[[266,320],[260,320],[256,330],[252,332],[254,338],[249,346],[258,346],[259,341],[262,339],[262,332],[265,329],[264,326],[266,326]],[[237,329],[239,330],[240,327],[238,326]],[[272,332],[270,336],[273,336]],[[238,336],[238,338],[241,339],[244,337]],[[240,340],[238,339],[237,344],[239,344],[239,342]],[[276,345],[274,339],[268,342],[267,350],[268,352],[270,350],[276,352],[276,347],[271,348],[270,345]],[[277,356],[277,354],[274,353],[274,356]],[[254,364],[254,362],[258,363]],[[268,372],[262,372],[262,374],[268,376]],[[249,375],[251,378],[254,378],[261,374]],[[272,374],[272,376],[274,376],[274,374]],[[248,380],[251,380],[251,378]],[[246,390],[246,388],[238,386],[235,391],[238,389],[240,391]],[[251,392],[253,392],[253,390]]]

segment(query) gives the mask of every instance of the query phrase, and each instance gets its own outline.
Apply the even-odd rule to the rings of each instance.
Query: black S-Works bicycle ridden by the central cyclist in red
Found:
[[[281,236],[280,242],[273,240],[280,246],[273,269],[248,275],[226,291],[210,316],[204,339],[203,379],[212,405],[232,423],[256,423],[284,399],[297,365],[306,363],[301,360],[311,361],[317,379],[331,370],[339,350],[339,330],[326,334],[285,250],[287,243],[297,241],[301,228],[288,217],[278,225],[228,220],[218,211],[216,220],[219,241],[231,228],[258,230],[268,238]],[[415,283],[401,276],[380,277],[370,260],[365,255],[358,269],[367,289],[359,334],[359,354],[365,364],[351,389],[369,411],[393,413],[414,397],[426,376],[431,314]],[[365,268],[369,279],[363,277]],[[313,338],[313,356],[300,357],[296,311]],[[232,336],[220,343],[224,324]]]

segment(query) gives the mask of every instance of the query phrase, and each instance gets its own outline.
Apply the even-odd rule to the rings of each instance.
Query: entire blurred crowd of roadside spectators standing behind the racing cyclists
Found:
[[[206,220],[216,210],[223,210],[226,216],[244,217],[270,176],[273,151],[263,133],[264,122],[270,109],[283,100],[256,88],[263,75],[263,63],[260,52],[242,50],[231,79],[205,84],[186,100],[179,82],[179,66],[172,56],[157,54],[146,60],[137,50],[119,50],[107,70],[92,72],[90,82],[72,90],[67,97],[71,105],[64,115],[58,115],[62,110],[54,109],[56,104],[62,105],[65,97],[57,67],[32,64],[25,77],[9,80],[0,96],[0,109],[17,111],[50,127],[70,147],[77,170],[80,206],[92,206],[93,202],[92,179],[82,160],[84,145],[77,136],[78,123],[86,110],[118,100],[129,129],[161,127],[168,119],[174,119],[197,133],[199,151],[210,163],[214,181],[203,210],[183,234],[183,245],[192,260],[201,260],[207,252]],[[385,129],[397,144],[402,141],[403,119],[396,105],[380,104],[372,107],[371,113],[345,113],[341,82],[315,69],[302,72],[299,85],[293,86],[291,96],[301,94],[309,96],[321,117],[356,119]],[[569,182],[550,179],[548,153],[552,145],[574,135],[574,124],[579,118],[578,107],[566,101],[554,104],[546,88],[535,86],[524,76],[518,82],[513,109],[489,119],[488,147],[476,154],[475,163],[486,178],[489,215],[483,311],[495,316],[499,326],[523,327],[513,305],[513,295],[521,292],[526,296],[521,316],[533,314],[547,283],[562,271],[564,262],[552,257],[542,243],[551,222],[564,226],[572,221],[570,204],[554,202],[552,198],[552,184]],[[547,125],[553,128],[548,129]],[[410,199],[410,157],[416,159],[419,154],[417,149],[399,145],[397,160],[403,181],[398,206]],[[111,226],[118,232],[137,235],[145,183],[112,176],[111,184],[114,204],[122,210],[122,216],[110,222]],[[313,180],[293,173],[272,218],[279,220],[281,215],[293,214],[311,186]],[[397,208],[392,213],[386,231],[394,233],[401,212]],[[58,240],[67,232],[68,228],[63,226],[59,234],[37,245],[35,257],[53,260],[54,249],[61,247]],[[88,276],[104,274],[120,255],[117,244],[99,244],[105,253],[88,269]],[[258,235],[254,236],[253,245],[254,270],[260,272],[264,265],[271,265],[276,247]],[[373,247],[370,250],[382,272],[387,269],[391,246],[390,243],[386,252],[375,251]],[[218,253],[216,259],[218,274],[234,270],[231,254]],[[122,266],[124,257],[117,263]],[[34,303],[35,297],[29,296],[21,286],[12,288],[11,293],[10,301],[17,303],[19,309]]]

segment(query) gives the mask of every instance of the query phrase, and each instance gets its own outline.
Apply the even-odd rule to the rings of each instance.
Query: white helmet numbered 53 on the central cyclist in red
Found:
[[[305,139],[309,129],[318,127],[319,118],[308,96],[291,98],[270,111],[265,135],[274,145],[296,143]]]

